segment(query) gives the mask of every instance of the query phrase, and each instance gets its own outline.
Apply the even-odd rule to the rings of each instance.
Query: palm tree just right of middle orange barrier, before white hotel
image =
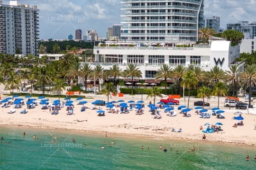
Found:
[[[136,67],[135,64],[128,64],[126,67],[125,71],[123,72],[124,77],[130,77],[132,80],[131,84],[131,93],[133,94],[133,79],[134,78],[141,78],[142,77],[142,72]]]

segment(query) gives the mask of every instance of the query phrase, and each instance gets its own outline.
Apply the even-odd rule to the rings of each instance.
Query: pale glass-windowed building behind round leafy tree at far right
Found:
[[[256,36],[256,23],[249,24],[248,21],[239,21],[237,24],[227,24],[227,29],[242,32],[244,39],[253,39]]]

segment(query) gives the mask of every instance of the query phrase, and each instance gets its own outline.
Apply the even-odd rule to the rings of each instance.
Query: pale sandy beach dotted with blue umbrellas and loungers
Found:
[[[88,96],[90,96],[90,94],[88,94]],[[7,96],[2,96],[2,98],[6,97]],[[86,132],[107,132],[110,134],[137,134],[167,137],[170,139],[178,138],[182,140],[202,140],[203,133],[200,130],[200,126],[203,126],[205,123],[215,125],[216,122],[221,122],[223,124],[221,126],[223,131],[220,131],[219,133],[206,134],[207,141],[247,145],[256,144],[256,130],[254,130],[256,125],[256,116],[247,114],[247,110],[237,110],[232,107],[229,110],[229,107],[223,107],[225,98],[220,98],[219,102],[220,108],[225,110],[225,119],[218,119],[216,116],[211,116],[210,118],[199,118],[199,115],[195,115],[195,110],[190,111],[192,114],[191,117],[183,117],[182,114],[179,114],[180,110],[177,110],[178,106],[174,106],[174,111],[177,112],[177,116],[167,116],[166,113],[164,113],[164,109],[161,109],[160,114],[162,118],[154,119],[153,115],[150,114],[148,107],[145,108],[144,114],[136,115],[135,109],[130,111],[128,114],[113,114],[109,113],[106,106],[103,106],[102,109],[106,111],[105,116],[98,116],[96,113],[97,110],[90,109],[90,107],[94,106],[91,102],[96,99],[107,100],[107,97],[103,95],[92,95],[91,97],[94,97],[94,99],[85,99],[88,102],[86,106],[89,108],[84,112],[81,112],[80,109],[82,105],[76,105],[78,101],[73,99],[74,115],[67,115],[66,107],[63,107],[59,111],[58,115],[51,115],[49,109],[42,110],[42,105],[38,105],[33,109],[28,109],[27,114],[19,113],[27,107],[26,105],[22,106],[22,108],[16,109],[16,112],[13,114],[8,114],[8,111],[10,108],[13,108],[14,105],[11,105],[8,108],[0,107],[0,125],[72,129]],[[57,98],[49,98],[50,105],[51,101],[54,101],[55,99]],[[130,99],[137,101],[141,100],[141,95],[125,95],[123,98],[112,97],[110,98],[110,101],[117,101],[119,99],[123,99],[126,102]],[[25,99],[25,101],[26,100],[27,99]],[[37,100],[40,101],[40,99]],[[143,100],[145,101],[145,105],[148,105],[149,101],[153,101],[152,99],[146,99],[146,95],[143,96]],[[160,98],[156,99],[157,102],[159,100]],[[201,99],[191,98],[190,108],[194,108],[193,102],[198,100]],[[244,101],[243,98],[240,100]],[[61,99],[61,101],[64,100]],[[187,102],[187,98],[185,101]],[[210,108],[217,107],[217,101],[218,98],[210,98],[208,101],[210,103]],[[181,105],[184,105],[183,98],[180,99],[180,106]],[[206,109],[209,109],[209,107],[206,107]],[[236,111],[243,112],[242,116],[244,117],[244,125],[234,128],[232,125],[238,123],[238,120],[232,119],[234,116],[233,113]],[[211,113],[211,110],[209,110],[209,113]],[[176,131],[179,128],[182,128],[182,132],[171,132],[172,128]]]

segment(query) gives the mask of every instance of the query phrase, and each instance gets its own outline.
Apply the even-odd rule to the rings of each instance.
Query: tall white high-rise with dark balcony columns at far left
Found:
[[[37,6],[9,5],[0,0],[0,53],[38,55],[39,20]]]

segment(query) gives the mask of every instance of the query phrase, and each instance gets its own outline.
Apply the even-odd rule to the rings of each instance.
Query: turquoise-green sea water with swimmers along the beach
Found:
[[[26,136],[23,136],[23,130]],[[33,139],[35,134],[37,140]],[[253,160],[255,147],[112,134],[105,138],[104,134],[12,126],[0,126],[0,136],[4,137],[0,141],[0,170],[256,169]],[[58,138],[58,146],[50,144],[54,136]],[[72,143],[73,138],[75,143]],[[114,144],[109,147],[111,141]],[[101,149],[102,145],[105,146],[104,150]],[[144,145],[143,150],[140,149],[141,145]],[[159,145],[166,147],[167,152],[160,150]],[[196,152],[187,152],[192,145],[196,147]],[[251,161],[246,161],[247,154]]]

